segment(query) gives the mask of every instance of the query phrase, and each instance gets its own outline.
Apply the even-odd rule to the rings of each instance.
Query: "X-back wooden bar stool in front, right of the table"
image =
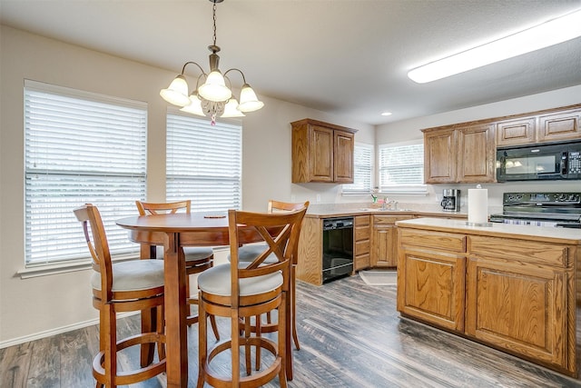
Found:
[[[214,387],[259,387],[277,375],[282,387],[287,386],[287,349],[290,347],[290,298],[291,263],[296,241],[299,239],[300,224],[307,209],[282,214],[257,214],[231,210],[229,237],[231,263],[215,266],[198,277],[200,290],[200,349],[198,387],[209,383]],[[239,256],[239,234],[254,231],[264,240],[264,251],[255,260],[241,263]],[[266,263],[274,254],[276,260]],[[272,256],[271,256],[272,257]],[[260,316],[279,311],[278,340],[274,343],[261,336]],[[206,314],[231,319],[231,339],[216,343],[208,350]],[[250,318],[258,318],[255,335],[250,330]],[[245,324],[240,333],[240,320]],[[251,348],[256,352],[256,370],[251,372]],[[246,376],[241,376],[241,348],[244,353]],[[221,375],[212,368],[212,360],[220,353],[231,351],[231,374]],[[274,356],[273,362],[261,369],[261,350]],[[221,368],[223,369],[223,367]]]

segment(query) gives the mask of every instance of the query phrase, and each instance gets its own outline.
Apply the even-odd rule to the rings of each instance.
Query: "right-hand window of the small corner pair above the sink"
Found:
[[[379,191],[425,194],[423,141],[379,146]]]

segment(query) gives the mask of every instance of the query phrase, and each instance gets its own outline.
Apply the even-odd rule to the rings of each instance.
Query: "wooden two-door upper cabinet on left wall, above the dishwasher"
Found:
[[[292,126],[292,183],[353,183],[355,129],[303,119]]]

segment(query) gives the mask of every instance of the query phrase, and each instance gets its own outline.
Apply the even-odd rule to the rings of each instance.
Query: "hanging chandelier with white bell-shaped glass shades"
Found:
[[[253,112],[264,106],[251,85],[246,83],[246,78],[240,69],[232,68],[222,75],[218,68],[220,56],[220,47],[216,45],[216,4],[222,3],[223,0],[210,0],[213,3],[213,45],[208,49],[212,52],[210,55],[210,73],[206,74],[201,65],[195,62],[186,62],[182,67],[182,74],[176,76],[172,84],[167,89],[162,89],[160,95],[170,104],[181,106],[182,112],[210,116],[212,125],[216,124],[216,117],[241,117],[244,113]],[[185,80],[183,72],[187,65],[196,65],[202,71],[196,80],[196,88],[189,94],[188,83]],[[242,76],[242,88],[240,93],[240,103],[232,96],[231,82],[228,78],[230,72],[238,72]],[[200,82],[203,84],[200,85]],[[226,86],[228,81],[229,86]]]

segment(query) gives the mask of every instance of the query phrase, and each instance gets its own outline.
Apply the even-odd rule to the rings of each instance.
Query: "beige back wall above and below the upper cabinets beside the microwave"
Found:
[[[525,97],[500,101],[493,104],[473,106],[458,111],[446,112],[443,114],[433,114],[424,117],[417,117],[397,123],[383,124],[376,127],[377,144],[396,143],[407,140],[422,139],[420,131],[423,128],[433,126],[465,123],[474,120],[500,117],[509,114],[524,114],[543,109],[556,108],[572,104],[581,104],[581,85],[558,89],[538,95],[527,95]],[[535,191],[581,191],[579,181],[570,182],[542,182],[527,183],[518,182],[510,184],[482,184],[488,189],[488,205],[499,209],[502,206],[502,194],[510,192],[535,192]],[[439,204],[441,201],[442,189],[455,188],[461,191],[461,204],[468,203],[468,188],[475,187],[474,184],[430,184],[428,185],[428,196],[422,197],[393,197],[400,202]],[[462,209],[465,210],[465,209]]]

